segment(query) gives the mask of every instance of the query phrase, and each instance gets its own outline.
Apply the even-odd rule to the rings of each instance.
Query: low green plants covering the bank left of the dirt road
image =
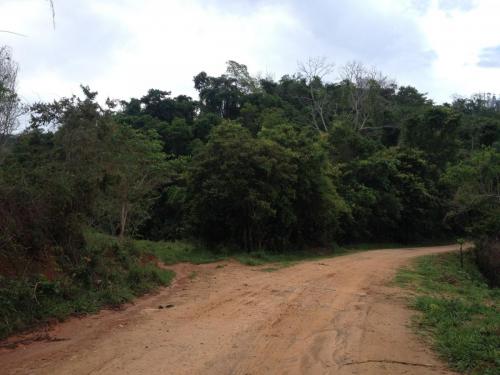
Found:
[[[120,244],[109,236],[86,234],[78,264],[46,274],[26,277],[0,276],[0,338],[53,319],[117,306],[151,289],[168,285],[174,273],[143,260],[131,243]]]

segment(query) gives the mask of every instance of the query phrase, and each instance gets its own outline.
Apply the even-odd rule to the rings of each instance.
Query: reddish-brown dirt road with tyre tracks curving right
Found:
[[[275,272],[177,265],[171,287],[122,311],[13,338],[25,343],[0,350],[0,373],[452,374],[412,334],[390,282],[410,258],[453,249],[376,250]]]

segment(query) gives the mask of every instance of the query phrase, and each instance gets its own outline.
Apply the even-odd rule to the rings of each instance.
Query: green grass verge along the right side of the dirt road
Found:
[[[396,282],[415,292],[415,327],[453,369],[500,374],[500,289],[488,287],[472,256],[464,269],[457,253],[418,258]]]

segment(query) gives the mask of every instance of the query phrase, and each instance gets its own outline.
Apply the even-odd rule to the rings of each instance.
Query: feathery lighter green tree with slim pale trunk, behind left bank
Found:
[[[118,124],[97,92],[84,98],[35,104],[32,126],[56,128],[60,168],[72,176],[70,190],[80,199],[88,223],[123,237],[145,218],[160,185],[165,154],[154,130]]]

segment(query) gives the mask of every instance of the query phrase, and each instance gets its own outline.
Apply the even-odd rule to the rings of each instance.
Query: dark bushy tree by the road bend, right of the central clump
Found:
[[[345,231],[351,239],[408,242],[443,231],[436,173],[422,152],[383,149],[341,170],[342,195],[351,207]]]

